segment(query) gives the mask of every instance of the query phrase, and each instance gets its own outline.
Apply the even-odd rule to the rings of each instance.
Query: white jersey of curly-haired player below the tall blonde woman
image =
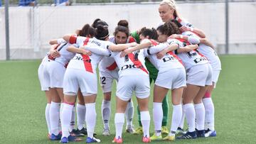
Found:
[[[167,40],[167,43],[169,45],[176,43],[180,48],[185,47],[187,45],[185,41],[182,42],[182,40],[177,40],[177,39],[169,39]],[[190,52],[181,52],[176,54],[178,55],[178,57],[181,58],[186,70],[193,67],[194,65],[203,65],[208,63],[207,58],[201,55],[196,50],[191,50]]]

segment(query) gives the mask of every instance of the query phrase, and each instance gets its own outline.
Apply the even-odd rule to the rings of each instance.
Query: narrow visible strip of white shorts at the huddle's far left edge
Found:
[[[41,91],[48,91],[49,87],[46,86],[45,82],[44,82],[44,77],[43,77],[43,73],[46,70],[46,60],[48,60],[47,57],[44,57],[41,64],[38,67],[38,79],[41,85]]]

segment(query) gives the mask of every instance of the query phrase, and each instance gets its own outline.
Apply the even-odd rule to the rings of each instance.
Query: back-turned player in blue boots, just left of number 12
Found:
[[[100,47],[100,49],[111,48],[122,48],[126,49],[133,46],[134,43],[127,45],[116,45],[107,43],[109,32],[105,26],[96,25],[97,35],[95,38],[85,38],[85,37],[75,37],[73,35],[65,35],[63,38],[69,43],[75,43],[78,47],[70,47],[70,52],[76,52],[77,54],[70,60],[67,71],[64,77],[64,99],[65,104],[62,111],[62,123],[63,136],[60,143],[68,143],[70,141],[70,134],[68,133],[68,123],[70,123],[72,107],[75,104],[75,95],[78,92],[78,88],[82,92],[85,99],[86,114],[85,121],[87,124],[87,139],[86,143],[98,143],[99,139],[93,136],[93,132],[96,124],[96,111],[95,111],[95,99],[97,96],[97,74],[96,67],[97,64],[102,60],[102,55],[97,54],[97,52],[92,53],[87,48]],[[96,47],[96,48],[95,48]],[[107,52],[109,55],[109,52]]]

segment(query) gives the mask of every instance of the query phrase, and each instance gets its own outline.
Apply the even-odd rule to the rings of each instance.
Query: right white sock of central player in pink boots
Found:
[[[143,135],[149,138],[149,125],[150,125],[150,115],[149,111],[141,111],[141,121],[142,121],[142,128],[143,128]]]

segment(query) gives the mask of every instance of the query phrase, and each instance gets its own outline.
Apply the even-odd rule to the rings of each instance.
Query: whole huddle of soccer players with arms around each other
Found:
[[[102,135],[110,135],[112,82],[117,81],[115,136],[122,143],[124,116],[127,133],[143,134],[142,141],[213,137],[214,106],[211,92],[218,81],[221,65],[213,45],[198,28],[176,11],[174,0],[159,5],[162,23],[129,33],[126,20],[119,21],[110,38],[108,25],[97,18],[75,34],[50,40],[52,48],[38,68],[41,90],[46,92],[48,138],[60,143],[79,141],[98,143],[95,138],[97,72],[100,71]],[[153,89],[154,135],[149,135],[150,84]],[[173,112],[170,131],[168,96],[171,89]],[[139,128],[132,119],[137,96]],[[78,99],[77,99],[78,98]],[[75,129],[75,102],[77,126]],[[183,130],[186,117],[188,130]],[[86,123],[86,128],[85,128]],[[167,134],[162,138],[162,134]]]

